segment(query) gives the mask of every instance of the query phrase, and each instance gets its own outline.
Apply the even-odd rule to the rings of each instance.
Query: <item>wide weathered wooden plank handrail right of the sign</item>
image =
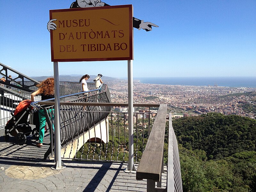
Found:
[[[160,104],[148,142],[137,169],[137,180],[160,181],[163,166],[164,132],[167,104]]]

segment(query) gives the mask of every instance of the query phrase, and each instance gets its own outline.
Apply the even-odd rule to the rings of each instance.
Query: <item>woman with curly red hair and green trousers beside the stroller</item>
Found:
[[[47,78],[36,86],[38,87],[38,90],[31,94],[31,102],[34,102],[34,97],[39,94],[41,94],[41,100],[54,98],[54,79],[53,78]],[[44,107],[48,107],[48,106],[44,106]],[[51,114],[51,112],[53,111],[53,114],[54,114],[54,109],[49,109],[47,111],[49,114]],[[54,116],[52,116],[52,118],[54,118]],[[43,146],[45,122],[46,122],[46,117],[44,115],[44,109],[40,109],[39,110],[39,123],[40,123],[39,143],[36,144],[36,147]]]

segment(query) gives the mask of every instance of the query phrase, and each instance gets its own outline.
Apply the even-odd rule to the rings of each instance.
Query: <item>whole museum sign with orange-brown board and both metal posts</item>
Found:
[[[86,15],[86,18],[82,20],[81,15]],[[50,10],[48,30],[51,31],[51,56],[54,62],[55,81],[55,169],[62,169],[65,166],[61,162],[60,154],[58,62],[128,60],[129,165],[127,170],[129,172],[136,171],[133,164],[132,59],[134,20],[132,18],[132,5]],[[58,24],[56,25],[53,21],[58,22]],[[68,23],[68,21],[72,23]],[[136,19],[136,22],[140,25],[142,20]],[[152,26],[153,24],[146,22],[146,25]],[[81,32],[81,27],[84,28],[83,32]]]

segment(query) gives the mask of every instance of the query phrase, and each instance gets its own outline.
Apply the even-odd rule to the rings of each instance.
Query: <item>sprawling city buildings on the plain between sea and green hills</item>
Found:
[[[112,102],[127,103],[127,81],[109,84]],[[179,116],[218,112],[256,118],[256,88],[144,84],[133,82],[134,103],[167,103],[168,112]],[[247,106],[246,106],[247,105]],[[249,110],[252,105],[254,110]],[[245,108],[246,107],[246,108]]]

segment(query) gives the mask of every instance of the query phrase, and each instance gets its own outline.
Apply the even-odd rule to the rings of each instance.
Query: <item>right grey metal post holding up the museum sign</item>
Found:
[[[133,164],[133,74],[132,60],[128,60],[128,124],[129,124],[129,164],[126,172],[136,172]]]

